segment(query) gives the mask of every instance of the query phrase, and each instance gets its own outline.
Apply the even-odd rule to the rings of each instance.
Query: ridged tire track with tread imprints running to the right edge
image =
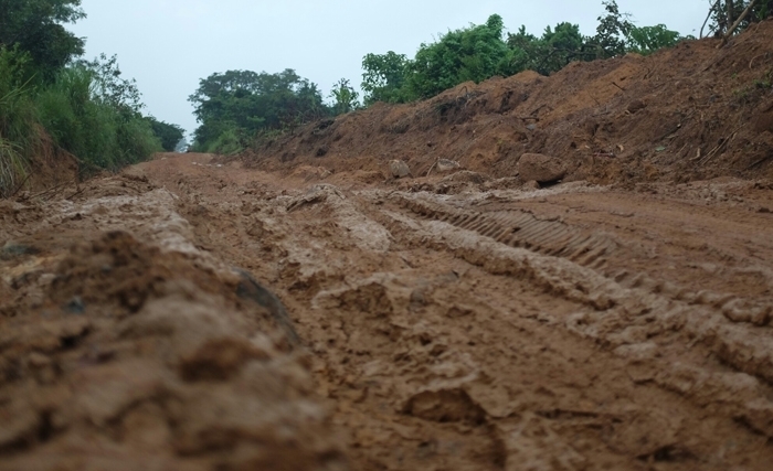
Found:
[[[625,249],[558,221],[393,197],[422,216],[383,210],[393,234],[444,247],[494,275],[529,279],[587,306],[563,327],[646,371],[636,373],[635,381],[718,407],[773,439],[773,344],[771,330],[763,327],[770,322],[770,306],[707,290],[689,292],[632,270],[607,276],[597,270],[599,260],[625,257]]]

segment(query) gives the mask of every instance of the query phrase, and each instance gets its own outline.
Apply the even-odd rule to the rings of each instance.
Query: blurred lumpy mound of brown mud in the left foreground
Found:
[[[284,307],[173,201],[1,202],[0,470],[348,469]]]

